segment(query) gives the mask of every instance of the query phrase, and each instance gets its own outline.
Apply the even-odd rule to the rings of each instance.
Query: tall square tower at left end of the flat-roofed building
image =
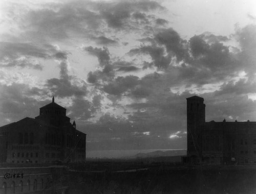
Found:
[[[204,124],[204,99],[196,95],[187,98],[187,156],[193,157],[197,162],[202,156],[202,130]]]

